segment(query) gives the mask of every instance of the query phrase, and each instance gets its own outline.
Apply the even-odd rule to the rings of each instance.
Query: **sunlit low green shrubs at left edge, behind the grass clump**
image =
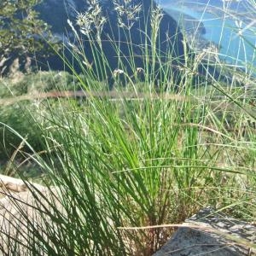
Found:
[[[46,116],[44,114],[49,106],[55,108],[56,99],[48,104],[44,99],[34,97],[52,90],[79,89],[78,79],[65,72],[18,74],[15,78],[0,79],[1,122],[14,127],[21,137],[27,137],[27,142],[32,145],[34,150],[40,151],[42,149],[40,139],[42,132],[40,129],[38,130],[38,125],[45,123]],[[31,96],[32,101],[10,101],[11,98],[19,99],[19,96],[23,95]],[[16,148],[20,147],[20,143],[22,143],[20,137],[14,136],[4,126],[0,127],[0,158],[3,162],[6,162],[15,153]],[[26,145],[24,146],[26,148]]]

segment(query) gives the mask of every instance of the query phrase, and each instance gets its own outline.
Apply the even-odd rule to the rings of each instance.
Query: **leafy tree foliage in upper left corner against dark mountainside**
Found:
[[[49,55],[51,47],[46,41],[52,40],[53,43],[53,37],[49,26],[38,18],[38,12],[34,9],[41,2],[41,0],[1,1],[0,75],[6,73],[9,59],[26,61],[23,65],[27,70],[35,53],[38,56]]]

